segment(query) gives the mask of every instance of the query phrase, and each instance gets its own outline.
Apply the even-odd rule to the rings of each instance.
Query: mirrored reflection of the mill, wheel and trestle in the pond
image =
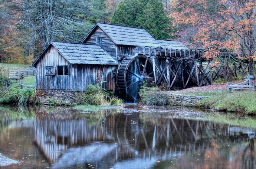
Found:
[[[115,114],[104,116],[105,121],[100,122],[95,121],[95,116],[35,119],[35,142],[46,158],[54,163],[53,168],[84,166],[86,163],[96,168],[122,168],[122,165],[129,168],[131,160],[134,168],[150,168],[157,160],[216,149],[221,146],[216,145],[220,137],[232,137],[231,142],[247,138],[228,125],[175,119],[166,114]],[[244,153],[245,166],[248,166],[248,157],[248,153]]]

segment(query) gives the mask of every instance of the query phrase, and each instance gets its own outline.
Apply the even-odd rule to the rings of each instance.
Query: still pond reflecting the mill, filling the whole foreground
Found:
[[[254,117],[138,107],[0,107],[6,169],[255,169]]]

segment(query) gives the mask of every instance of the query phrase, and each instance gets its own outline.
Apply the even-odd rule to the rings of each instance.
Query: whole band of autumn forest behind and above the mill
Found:
[[[49,41],[80,43],[97,22],[142,27],[207,51],[256,57],[256,0],[0,0],[0,63],[31,64]]]

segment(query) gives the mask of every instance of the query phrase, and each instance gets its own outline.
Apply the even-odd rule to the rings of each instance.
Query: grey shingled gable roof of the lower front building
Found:
[[[33,65],[45,51],[53,46],[70,64],[118,65],[115,60],[99,45],[85,45],[51,41],[37,57]]]

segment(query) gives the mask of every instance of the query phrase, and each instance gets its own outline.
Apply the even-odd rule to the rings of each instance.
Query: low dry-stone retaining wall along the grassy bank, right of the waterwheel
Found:
[[[195,103],[203,101],[207,96],[190,96],[181,94],[169,94],[168,103],[173,106],[192,106]]]

